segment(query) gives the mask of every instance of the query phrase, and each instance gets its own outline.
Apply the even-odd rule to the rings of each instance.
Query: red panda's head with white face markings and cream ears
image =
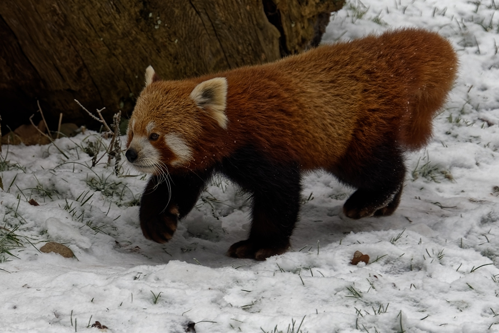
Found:
[[[137,170],[152,174],[186,167],[196,159],[205,122],[227,129],[227,79],[162,81],[151,66],[145,79],[128,123],[125,156]]]

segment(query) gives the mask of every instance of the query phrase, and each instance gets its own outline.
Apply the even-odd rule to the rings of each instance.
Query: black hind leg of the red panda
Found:
[[[331,172],[343,183],[357,188],[343,206],[346,216],[360,219],[390,215],[398,207],[406,173],[400,147],[377,146],[360,162],[347,154]]]

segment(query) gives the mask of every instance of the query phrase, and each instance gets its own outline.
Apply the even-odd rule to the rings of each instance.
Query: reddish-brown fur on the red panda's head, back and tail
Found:
[[[347,149],[362,160],[387,136],[407,149],[425,145],[457,68],[452,46],[437,33],[390,31],[265,65],[156,81],[142,94],[155,92],[144,96],[148,105],[139,99],[133,118],[181,132],[195,150],[189,169],[213,165],[248,143],[272,159],[297,160],[303,170],[329,169]],[[227,131],[189,100],[212,77],[228,81]]]

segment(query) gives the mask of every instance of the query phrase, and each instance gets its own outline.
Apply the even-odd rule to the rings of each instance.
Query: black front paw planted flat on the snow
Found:
[[[227,251],[227,255],[234,258],[265,260],[268,257],[283,254],[287,249],[289,249],[289,241],[279,246],[268,246],[247,239],[233,244]]]

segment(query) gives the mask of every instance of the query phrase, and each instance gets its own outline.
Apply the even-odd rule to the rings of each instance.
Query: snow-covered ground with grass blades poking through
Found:
[[[393,216],[350,220],[341,207],[352,190],[308,175],[293,251],[264,262],[225,256],[249,223],[224,179],[161,245],[138,226],[146,178],[115,176],[107,157],[90,167],[98,134],[57,140],[68,158],[53,145],[8,154],[4,145],[0,246],[9,235],[24,247],[0,255],[0,332],[97,332],[95,321],[123,333],[185,332],[189,322],[198,333],[296,333],[300,324],[303,333],[499,332],[497,8],[350,0],[333,15],[324,42],[401,26],[438,31],[458,50],[460,77],[432,142],[408,156]],[[38,252],[46,241],[76,258]],[[369,264],[350,265],[355,251]]]

